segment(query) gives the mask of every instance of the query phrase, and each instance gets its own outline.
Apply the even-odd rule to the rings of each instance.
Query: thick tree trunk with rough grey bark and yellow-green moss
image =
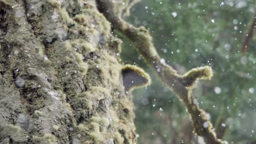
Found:
[[[110,29],[94,0],[0,0],[1,144],[136,143]]]

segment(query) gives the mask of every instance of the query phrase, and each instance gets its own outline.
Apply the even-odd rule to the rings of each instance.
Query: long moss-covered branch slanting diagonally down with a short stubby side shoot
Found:
[[[205,111],[201,110],[197,103],[193,103],[194,98],[191,95],[196,80],[210,79],[212,69],[210,67],[194,68],[184,75],[179,75],[170,65],[160,61],[161,58],[152,43],[152,37],[144,27],[134,27],[121,19],[120,14],[115,12],[114,8],[116,7],[112,1],[97,0],[97,4],[98,9],[112,23],[113,27],[132,41],[138,52],[148,65],[155,70],[162,82],[183,100],[192,118],[194,133],[202,136],[206,143],[228,143],[217,139]]]

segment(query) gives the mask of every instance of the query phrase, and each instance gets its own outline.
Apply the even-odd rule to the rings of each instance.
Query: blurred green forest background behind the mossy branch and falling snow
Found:
[[[142,0],[126,19],[145,26],[164,60],[180,73],[202,65],[214,70],[193,93],[217,135],[230,143],[256,143],[256,2],[254,0]],[[162,85],[129,40],[122,37],[125,64],[153,79],[133,91],[139,143],[201,143],[182,101]],[[254,34],[254,36],[252,36]]]

